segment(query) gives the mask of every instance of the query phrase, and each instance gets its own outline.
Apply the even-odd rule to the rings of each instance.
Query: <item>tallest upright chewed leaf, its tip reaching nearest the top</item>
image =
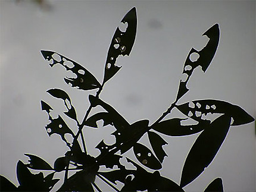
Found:
[[[118,27],[115,30],[113,39],[108,49],[107,61],[105,64],[104,83],[110,80],[121,67],[116,66],[116,61],[120,55],[130,55],[133,44],[135,42],[136,29],[137,29],[137,16],[136,8],[127,12],[121,23],[128,24],[125,32],[122,32]]]

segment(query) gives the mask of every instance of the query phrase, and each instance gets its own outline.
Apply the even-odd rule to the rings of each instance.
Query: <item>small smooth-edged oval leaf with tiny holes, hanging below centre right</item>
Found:
[[[161,163],[155,158],[154,154],[151,152],[148,147],[143,146],[143,144],[136,143],[133,145],[133,152],[136,158],[148,168],[151,169],[161,169]]]

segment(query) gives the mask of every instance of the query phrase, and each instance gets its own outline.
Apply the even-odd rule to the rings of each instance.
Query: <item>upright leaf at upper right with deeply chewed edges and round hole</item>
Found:
[[[189,52],[183,68],[183,75],[185,80],[180,80],[176,100],[180,99],[180,97],[189,91],[188,87],[186,87],[186,84],[188,83],[193,70],[195,70],[196,67],[201,66],[202,71],[205,73],[217,51],[218,41],[220,39],[220,29],[218,28],[218,24],[214,24],[214,26],[212,26],[202,35],[206,35],[209,38],[209,41],[201,51],[197,51],[196,49],[192,48]],[[198,56],[198,58],[193,58],[194,56]]]

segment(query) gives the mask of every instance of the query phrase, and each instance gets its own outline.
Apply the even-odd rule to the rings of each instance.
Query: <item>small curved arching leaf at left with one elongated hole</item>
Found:
[[[61,89],[49,89],[46,91],[47,93],[49,93],[51,96],[56,97],[58,99],[62,99],[64,102],[65,107],[67,108],[67,112],[64,112],[65,115],[67,115],[67,117],[74,119],[77,123],[77,115],[76,115],[76,109],[74,109],[74,106],[71,104],[71,99],[68,96],[68,94],[66,92],[64,92],[64,90]]]

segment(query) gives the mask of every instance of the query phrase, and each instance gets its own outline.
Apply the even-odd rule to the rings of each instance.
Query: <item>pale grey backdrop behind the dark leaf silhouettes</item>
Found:
[[[38,155],[53,165],[67,150],[58,136],[48,137],[45,131],[48,116],[40,110],[40,100],[57,109],[56,114],[64,109],[63,102],[46,90],[65,90],[80,121],[88,108],[88,93],[95,94],[71,89],[63,81],[64,68],[49,67],[40,50],[56,51],[79,62],[101,82],[111,38],[132,7],[137,8],[138,14],[135,45],[129,57],[118,59],[123,67],[105,85],[101,99],[130,123],[149,119],[152,124],[174,101],[188,52],[192,47],[203,48],[207,38],[201,34],[218,23],[220,43],[216,56],[205,74],[199,69],[195,71],[188,84],[191,91],[180,103],[195,99],[226,100],[256,116],[255,1],[47,3],[49,8],[40,8],[32,1],[0,1],[0,173],[15,184],[18,160],[27,163],[24,153]],[[225,191],[255,191],[254,125],[253,122],[231,127],[214,161],[184,189],[203,191],[214,178],[221,177]],[[86,128],[88,152],[98,155],[94,147],[102,138],[113,142],[113,131],[110,127]],[[197,136],[163,136],[168,142],[164,146],[168,158],[164,159],[161,175],[179,184],[183,163]],[[141,142],[148,145],[146,138]],[[136,160],[132,152],[126,156]]]

